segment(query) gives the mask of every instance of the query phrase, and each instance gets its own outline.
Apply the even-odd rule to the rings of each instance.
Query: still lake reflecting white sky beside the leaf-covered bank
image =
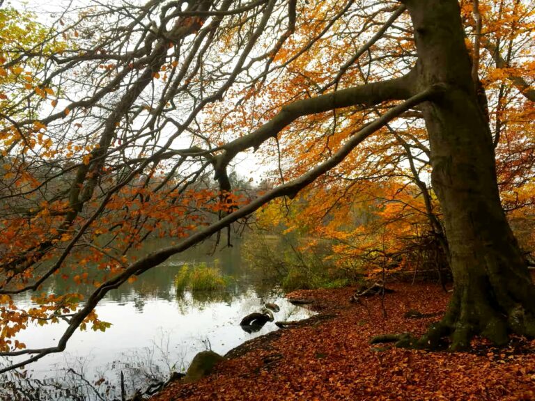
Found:
[[[137,252],[150,252],[162,245],[162,241],[148,242]],[[242,317],[260,311],[267,302],[281,308],[274,313],[275,322],[301,320],[314,314],[290,304],[278,288],[256,280],[242,260],[239,242],[232,248],[212,251],[210,244],[201,244],[146,272],[136,282],[109,292],[97,313],[112,326],[105,333],[77,331],[65,352],[26,366],[31,380],[24,379],[17,386],[38,383],[40,388],[48,388],[52,382],[56,386],[61,383],[65,388],[71,387],[71,395],[77,391],[85,400],[100,400],[99,396],[113,400],[120,394],[119,378],[123,372],[126,392],[131,397],[136,389],[144,390],[154,379],[166,379],[172,371],[183,372],[197,352],[212,349],[225,354],[251,338],[276,330],[274,322],[267,322],[254,333],[243,331],[239,325]],[[233,285],[224,292],[178,294],[173,278],[185,262],[217,266],[234,278]],[[61,292],[64,285],[59,279],[45,291]],[[84,288],[77,290],[84,293]],[[20,306],[31,304],[28,294],[21,295],[17,302]],[[56,344],[65,325],[31,326],[17,339],[26,347],[49,347]],[[0,380],[0,398],[13,399],[13,376],[4,375]],[[48,398],[42,400],[76,399],[57,389],[52,395],[48,390],[45,393]]]

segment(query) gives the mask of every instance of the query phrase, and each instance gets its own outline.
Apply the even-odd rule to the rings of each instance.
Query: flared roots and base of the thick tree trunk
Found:
[[[467,276],[470,281],[456,286],[446,314],[431,324],[424,336],[387,334],[372,338],[371,343],[389,342],[396,347],[455,352],[470,349],[475,336],[486,338],[497,347],[508,344],[511,334],[535,338],[535,290],[531,281],[519,279],[515,283],[513,275],[513,278],[498,277]],[[414,310],[405,315],[406,318],[423,316]]]

